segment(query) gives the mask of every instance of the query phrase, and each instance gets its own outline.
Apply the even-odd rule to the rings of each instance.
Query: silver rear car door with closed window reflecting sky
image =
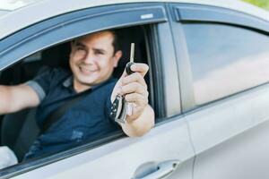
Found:
[[[268,178],[269,22],[210,5],[169,8],[194,179]]]

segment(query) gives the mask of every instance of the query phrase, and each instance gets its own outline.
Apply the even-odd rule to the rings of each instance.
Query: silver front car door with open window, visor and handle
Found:
[[[117,4],[65,13],[0,42],[0,69],[87,33],[148,25],[156,126],[140,138],[122,133],[0,172],[1,178],[192,178],[194,149],[181,115],[178,72],[164,4]],[[170,81],[174,79],[174,81]]]

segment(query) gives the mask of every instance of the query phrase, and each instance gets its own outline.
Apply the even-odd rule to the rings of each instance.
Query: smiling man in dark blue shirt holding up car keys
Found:
[[[92,33],[75,39],[71,46],[71,72],[53,69],[21,85],[0,86],[0,114],[39,106],[36,116],[39,127],[68,99],[84,91],[89,93],[39,135],[25,158],[100,139],[118,128],[128,136],[142,136],[154,125],[154,112],[148,105],[147,85],[143,79],[148,66],[133,64],[131,75],[123,72],[118,81],[111,78],[122,55],[114,31]],[[125,95],[126,101],[134,104],[126,124],[116,124],[108,117],[117,94]]]

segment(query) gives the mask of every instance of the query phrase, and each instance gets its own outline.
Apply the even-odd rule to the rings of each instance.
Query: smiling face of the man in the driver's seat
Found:
[[[73,42],[69,64],[75,90],[87,90],[108,80],[121,57],[121,51],[114,53],[113,40],[111,32],[101,31]]]

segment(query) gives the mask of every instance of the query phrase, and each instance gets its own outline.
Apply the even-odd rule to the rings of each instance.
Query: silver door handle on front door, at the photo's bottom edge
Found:
[[[154,163],[152,163],[152,165],[156,167],[155,171],[140,177],[134,176],[133,179],[164,179],[171,175],[178,168],[179,164],[179,160],[167,160],[157,164],[157,166],[156,164],[154,165]]]

